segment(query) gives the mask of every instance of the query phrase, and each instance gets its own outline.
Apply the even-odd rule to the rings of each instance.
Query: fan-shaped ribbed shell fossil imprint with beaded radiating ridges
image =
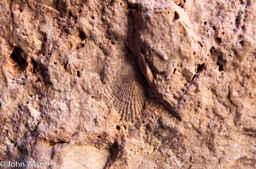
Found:
[[[120,118],[134,121],[143,109],[148,85],[132,53],[113,62],[107,72],[103,100],[115,107]]]

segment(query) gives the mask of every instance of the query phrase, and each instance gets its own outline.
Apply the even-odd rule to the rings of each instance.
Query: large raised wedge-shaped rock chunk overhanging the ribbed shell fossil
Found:
[[[203,64],[198,38],[188,16],[174,2],[138,6],[139,10],[133,11],[134,29],[127,45],[142,62],[141,69],[150,70],[145,76],[155,93],[173,108]]]

